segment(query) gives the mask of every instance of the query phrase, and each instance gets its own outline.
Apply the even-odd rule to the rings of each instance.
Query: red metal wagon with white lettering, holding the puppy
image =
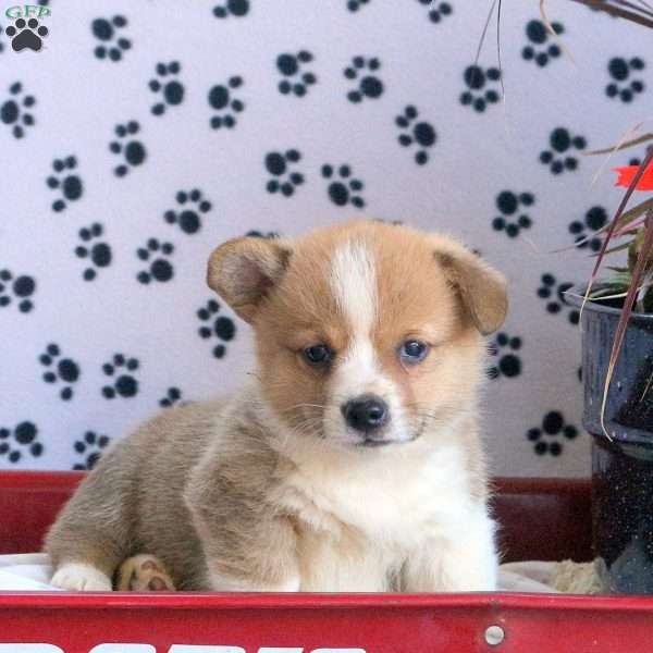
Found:
[[[0,472],[0,554],[38,551],[81,478]],[[588,482],[496,489],[506,560],[590,559]],[[0,653],[641,653],[652,642],[653,597],[0,592]]]

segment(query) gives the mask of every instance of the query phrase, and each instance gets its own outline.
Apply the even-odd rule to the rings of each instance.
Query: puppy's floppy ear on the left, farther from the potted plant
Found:
[[[207,283],[251,323],[270,289],[283,276],[292,250],[286,242],[245,237],[220,245],[209,258]]]

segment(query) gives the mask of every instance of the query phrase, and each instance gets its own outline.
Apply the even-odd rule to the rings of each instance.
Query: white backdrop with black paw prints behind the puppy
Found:
[[[589,473],[565,292],[620,198],[588,152],[650,113],[650,32],[549,0],[555,37],[537,0],[504,3],[500,61],[494,22],[477,59],[490,2],[39,4],[0,12],[1,468],[89,469],[238,387],[252,343],[206,285],[213,247],[368,215],[509,279],[493,472]]]

